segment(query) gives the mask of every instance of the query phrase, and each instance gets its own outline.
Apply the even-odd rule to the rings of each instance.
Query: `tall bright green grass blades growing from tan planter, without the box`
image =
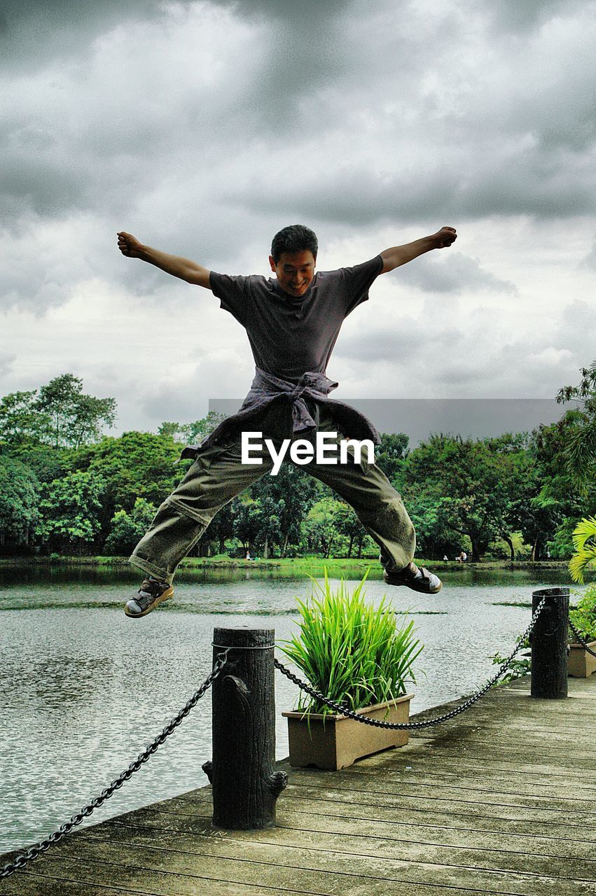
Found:
[[[351,593],[343,580],[333,590],[326,570],[322,585],[311,578],[310,598],[298,600],[299,632],[280,645],[317,691],[350,710],[405,694],[424,647],[385,597],[376,607],[367,602],[367,574]],[[333,712],[302,693],[298,710]]]

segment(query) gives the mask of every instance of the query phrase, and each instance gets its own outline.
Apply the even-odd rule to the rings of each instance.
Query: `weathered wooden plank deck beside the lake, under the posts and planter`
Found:
[[[66,837],[0,893],[596,894],[596,676],[569,679],[566,701],[529,688],[493,689],[350,769],[281,763],[274,829],[214,830],[202,788]]]

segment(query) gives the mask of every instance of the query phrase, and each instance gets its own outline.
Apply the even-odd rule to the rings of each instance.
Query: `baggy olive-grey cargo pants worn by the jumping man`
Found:
[[[337,432],[337,424],[323,406],[309,403],[309,410],[319,432]],[[263,432],[263,439],[271,438],[279,451],[281,441],[291,437],[289,404],[275,402],[246,429]],[[337,433],[338,442],[347,437]],[[251,456],[258,457],[259,452],[251,452]],[[221,507],[272,470],[273,461],[266,448],[260,456],[261,465],[241,462],[239,434],[233,441],[199,448],[193,466],[160,505],[151,527],[134,548],[131,564],[160,581],[172,582],[177,564],[201,538]],[[401,496],[383,471],[366,461],[366,452],[356,462],[349,447],[346,463],[339,461],[338,453],[337,464],[317,464],[313,459],[302,469],[333,488],[353,507],[358,520],[381,548],[385,569],[402,569],[410,563],[416,547],[414,527]]]

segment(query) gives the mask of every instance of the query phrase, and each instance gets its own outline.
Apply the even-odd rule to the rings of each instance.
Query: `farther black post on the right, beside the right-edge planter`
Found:
[[[531,596],[531,611],[542,608],[531,634],[531,696],[561,700],[567,696],[569,589],[543,588]]]

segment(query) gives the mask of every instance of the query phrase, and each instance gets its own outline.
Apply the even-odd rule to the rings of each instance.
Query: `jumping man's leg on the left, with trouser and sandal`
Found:
[[[127,616],[146,616],[171,597],[177,564],[201,538],[215,514],[271,467],[268,454],[263,455],[262,465],[243,466],[239,438],[231,445],[213,445],[199,451],[130,557],[131,564],[142,569],[146,578],[138,597],[126,604]]]

